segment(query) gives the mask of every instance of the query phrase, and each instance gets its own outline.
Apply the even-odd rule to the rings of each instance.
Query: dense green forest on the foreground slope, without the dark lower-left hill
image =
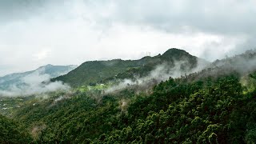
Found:
[[[38,142],[255,142],[255,75],[247,77],[250,91],[237,73],[194,82],[189,75],[161,82],[150,95],[126,89],[98,99],[82,92],[46,99],[16,118],[43,127]]]

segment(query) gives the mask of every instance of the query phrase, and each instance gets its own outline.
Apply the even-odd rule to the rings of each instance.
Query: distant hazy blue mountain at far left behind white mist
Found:
[[[36,70],[27,71],[24,73],[8,74],[0,77],[0,90],[9,90],[14,87],[20,87],[30,82],[43,82],[47,79],[58,77],[62,74],[67,74],[70,70],[74,70],[77,66],[41,66]]]

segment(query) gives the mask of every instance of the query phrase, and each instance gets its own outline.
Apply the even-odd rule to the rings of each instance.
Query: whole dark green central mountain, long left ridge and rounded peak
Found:
[[[209,62],[190,55],[185,50],[172,48],[164,54],[154,57],[144,57],[138,60],[114,59],[109,61],[84,62],[81,66],[71,70],[70,73],[51,79],[62,81],[70,86],[91,85],[98,82],[107,82],[115,78],[131,78],[135,75],[146,76],[156,66],[165,64],[168,68],[179,66],[184,73],[198,66],[206,66]]]

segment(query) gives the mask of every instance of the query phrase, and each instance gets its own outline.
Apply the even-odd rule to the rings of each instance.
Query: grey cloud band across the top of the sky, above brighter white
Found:
[[[119,0],[119,1],[0,1],[0,14],[6,18],[38,17],[49,14],[110,24],[125,22],[149,25],[168,32],[205,31],[217,34],[255,34],[256,2],[203,0]],[[74,12],[74,10],[77,10]],[[80,10],[79,10],[80,9]],[[66,10],[60,15],[58,10]],[[42,16],[42,15],[41,15]]]

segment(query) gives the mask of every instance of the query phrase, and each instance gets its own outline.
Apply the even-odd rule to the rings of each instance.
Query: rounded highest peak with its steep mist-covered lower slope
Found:
[[[180,77],[184,74],[190,74],[198,70],[202,70],[210,65],[210,62],[202,58],[197,58],[185,50],[170,49],[164,54],[158,55],[158,61],[146,63],[143,66],[130,68],[122,73],[119,73],[114,78],[106,79],[138,79],[150,77],[165,81],[169,77]],[[146,58],[146,57],[145,57]],[[159,76],[167,78],[158,78]]]

